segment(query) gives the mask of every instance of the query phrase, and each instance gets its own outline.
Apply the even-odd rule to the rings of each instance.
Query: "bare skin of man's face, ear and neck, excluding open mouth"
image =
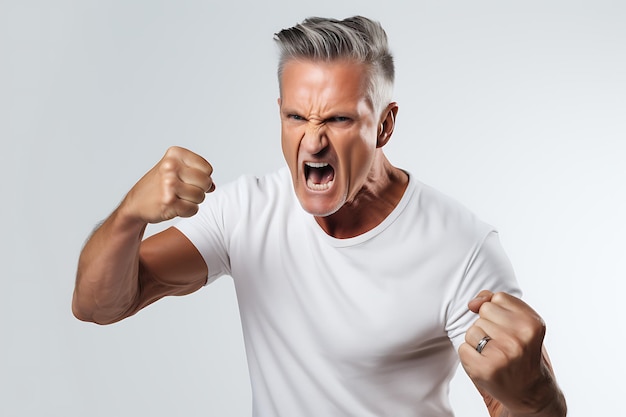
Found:
[[[283,155],[300,204],[331,236],[347,238],[379,224],[396,206],[408,176],[382,152],[398,112],[376,114],[366,67],[349,61],[288,62],[278,101]],[[332,186],[307,186],[305,162],[333,167]]]

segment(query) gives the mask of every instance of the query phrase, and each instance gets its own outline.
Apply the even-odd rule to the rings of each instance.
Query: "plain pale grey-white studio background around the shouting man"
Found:
[[[272,35],[354,14],[396,56],[391,160],[498,227],[570,416],[623,410],[625,3],[0,0],[0,415],[249,415],[230,278],[100,327],[76,261],[169,145],[218,186],[281,166]]]

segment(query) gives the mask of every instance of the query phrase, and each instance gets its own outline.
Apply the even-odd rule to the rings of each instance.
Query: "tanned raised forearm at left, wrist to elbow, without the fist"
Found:
[[[109,324],[133,313],[139,293],[139,246],[146,224],[123,206],[93,233],[83,248],[72,300],[74,315]]]

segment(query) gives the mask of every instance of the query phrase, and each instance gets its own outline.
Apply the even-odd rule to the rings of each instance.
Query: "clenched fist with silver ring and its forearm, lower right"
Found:
[[[565,397],[543,346],[542,318],[506,293],[481,291],[469,308],[479,318],[459,356],[491,417],[565,416]]]

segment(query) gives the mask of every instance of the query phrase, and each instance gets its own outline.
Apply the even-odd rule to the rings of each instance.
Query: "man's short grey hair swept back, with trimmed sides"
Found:
[[[280,48],[278,81],[285,64],[293,59],[312,61],[351,60],[369,68],[368,98],[377,113],[391,102],[394,82],[393,56],[380,23],[362,16],[344,20],[309,17],[274,35]]]

